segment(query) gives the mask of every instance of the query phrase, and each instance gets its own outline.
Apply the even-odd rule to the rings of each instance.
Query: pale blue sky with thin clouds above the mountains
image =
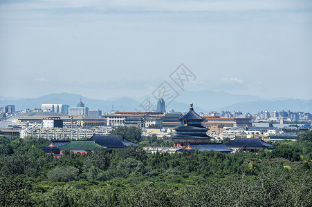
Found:
[[[0,1],[1,96],[143,97],[181,63],[185,90],[312,99],[312,1]]]

